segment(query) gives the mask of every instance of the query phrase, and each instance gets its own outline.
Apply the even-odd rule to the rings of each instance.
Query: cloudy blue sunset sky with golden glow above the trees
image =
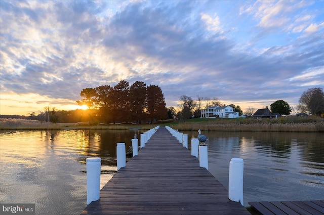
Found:
[[[0,114],[158,85],[244,111],[324,87],[324,1],[0,1]]]

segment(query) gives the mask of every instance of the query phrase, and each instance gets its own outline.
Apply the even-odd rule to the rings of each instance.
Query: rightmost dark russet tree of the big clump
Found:
[[[147,114],[153,120],[163,120],[168,117],[166,102],[162,90],[159,86],[147,86]]]

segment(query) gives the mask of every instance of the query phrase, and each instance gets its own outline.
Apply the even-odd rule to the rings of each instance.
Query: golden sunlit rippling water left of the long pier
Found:
[[[116,172],[116,143],[140,131],[0,132],[0,202],[35,203],[36,214],[86,207],[86,158],[101,157],[103,186]]]

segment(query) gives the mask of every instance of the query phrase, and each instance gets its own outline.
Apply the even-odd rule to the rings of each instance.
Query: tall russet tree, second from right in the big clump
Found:
[[[135,81],[129,89],[129,111],[132,120],[141,123],[141,120],[145,119],[146,97],[146,84]]]

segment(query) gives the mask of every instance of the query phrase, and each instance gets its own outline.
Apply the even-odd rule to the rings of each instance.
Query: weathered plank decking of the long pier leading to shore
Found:
[[[82,214],[250,214],[191,152],[159,128]]]

